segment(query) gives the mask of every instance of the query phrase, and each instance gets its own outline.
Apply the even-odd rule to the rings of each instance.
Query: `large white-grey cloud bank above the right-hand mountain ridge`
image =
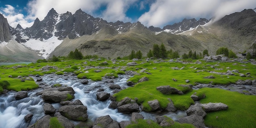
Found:
[[[212,18],[254,9],[256,0],[156,0],[138,20],[146,26],[163,27],[182,18]]]

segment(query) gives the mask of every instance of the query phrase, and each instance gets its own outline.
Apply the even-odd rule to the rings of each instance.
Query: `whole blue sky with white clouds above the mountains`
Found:
[[[255,9],[256,0],[0,0],[0,13],[12,27],[31,27],[50,9],[57,13],[86,13],[108,22],[140,21],[145,26],[163,27],[184,18],[222,18],[243,9]]]

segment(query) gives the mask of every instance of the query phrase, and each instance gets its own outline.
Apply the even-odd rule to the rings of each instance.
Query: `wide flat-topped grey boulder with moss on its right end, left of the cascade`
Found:
[[[49,102],[59,103],[61,101],[74,99],[74,94],[70,91],[45,91],[42,94],[42,99]]]

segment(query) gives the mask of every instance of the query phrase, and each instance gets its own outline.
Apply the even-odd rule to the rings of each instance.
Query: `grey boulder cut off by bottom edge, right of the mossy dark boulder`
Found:
[[[114,121],[109,115],[98,117],[92,128],[120,128],[119,123]]]

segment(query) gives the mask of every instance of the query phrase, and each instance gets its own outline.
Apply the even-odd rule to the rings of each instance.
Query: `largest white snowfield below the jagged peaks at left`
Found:
[[[63,40],[58,40],[58,37],[52,36],[48,40],[37,40],[37,39],[30,39],[25,43],[21,43],[22,45],[29,47],[33,50],[38,50],[40,56],[47,58],[50,53],[54,51],[54,49],[62,43]]]

